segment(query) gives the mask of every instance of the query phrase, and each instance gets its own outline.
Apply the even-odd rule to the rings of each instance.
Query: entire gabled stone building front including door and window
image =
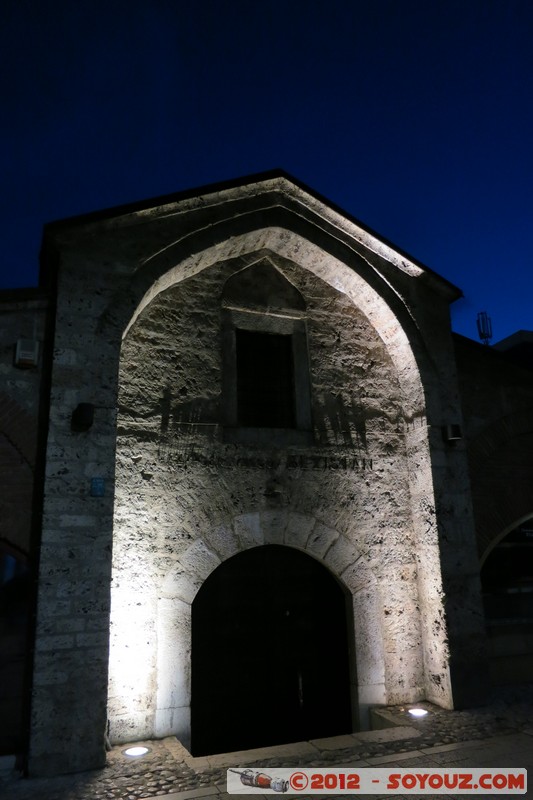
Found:
[[[49,225],[47,276],[31,774],[483,699],[456,287],[279,173]]]

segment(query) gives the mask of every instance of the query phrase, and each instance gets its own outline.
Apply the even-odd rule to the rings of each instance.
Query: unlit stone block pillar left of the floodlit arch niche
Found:
[[[113,510],[115,348],[96,327],[109,298],[106,266],[83,255],[58,281],[56,333],[34,651],[31,775],[105,763],[109,642],[109,535]],[[107,348],[107,350],[106,350]],[[103,365],[108,367],[106,378]],[[80,402],[97,406],[92,427],[71,428]],[[91,478],[106,481],[91,495]]]

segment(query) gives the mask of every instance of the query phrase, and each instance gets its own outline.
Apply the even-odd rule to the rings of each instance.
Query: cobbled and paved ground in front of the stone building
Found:
[[[431,713],[422,719],[412,719],[405,707],[388,707],[382,713],[393,727],[260,751],[192,758],[175,738],[169,737],[146,742],[150,748],[146,756],[128,759],[123,754],[125,745],[122,745],[108,754],[107,765],[101,770],[46,779],[25,779],[11,771],[0,778],[0,797],[6,800],[138,800],[187,793],[180,800],[186,800],[187,796],[205,796],[205,800],[208,797],[211,800],[211,796],[223,796],[220,792],[225,786],[229,766],[367,766],[369,763],[385,765],[391,759],[398,763],[403,759],[407,765],[411,756],[420,758],[426,754],[429,757],[428,748],[433,748],[431,754],[443,753],[457,743],[464,743],[465,747],[468,743],[472,748],[479,742],[477,752],[483,753],[484,740],[488,743],[493,737],[500,737],[494,741],[510,743],[511,739],[505,740],[510,734],[515,734],[513,741],[520,741],[524,752],[528,752],[531,741],[533,753],[533,684],[499,690],[487,706],[474,710],[445,711],[425,702],[418,705]],[[522,736],[516,737],[516,734]],[[428,763],[439,762],[429,760]]]

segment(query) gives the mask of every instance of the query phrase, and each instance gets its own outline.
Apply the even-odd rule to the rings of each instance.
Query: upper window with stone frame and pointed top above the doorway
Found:
[[[225,441],[312,444],[304,298],[263,261],[229,278],[221,299]]]

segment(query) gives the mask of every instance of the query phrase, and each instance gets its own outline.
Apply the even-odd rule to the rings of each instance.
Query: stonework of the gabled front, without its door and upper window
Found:
[[[474,702],[468,475],[442,438],[461,421],[455,288],[279,176],[52,226],[44,254],[59,289],[30,773],[102,765],[108,725],[186,740],[190,603],[261,543],[351,593],[356,710]],[[275,448],[220,424],[220,294],[265,258],[305,300],[313,403],[312,439]]]

